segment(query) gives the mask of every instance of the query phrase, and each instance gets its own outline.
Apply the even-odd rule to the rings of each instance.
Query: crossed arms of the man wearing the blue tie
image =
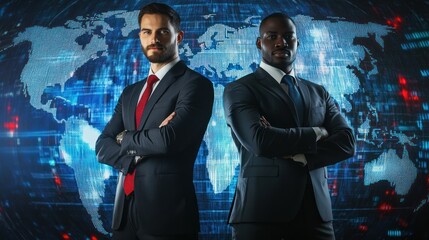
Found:
[[[240,144],[256,156],[294,159],[303,154],[309,169],[332,165],[354,155],[354,135],[329,94],[323,88],[317,94],[325,104],[317,115],[320,124],[282,128],[267,121],[260,112],[259,97],[247,86],[232,84],[224,92],[227,124]]]

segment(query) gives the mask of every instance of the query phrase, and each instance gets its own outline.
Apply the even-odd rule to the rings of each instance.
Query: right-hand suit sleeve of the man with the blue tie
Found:
[[[326,128],[329,136],[317,142],[317,152],[305,154],[310,170],[338,163],[352,157],[355,153],[353,130],[341,115],[329,93],[325,89],[323,92],[326,102],[323,127]]]

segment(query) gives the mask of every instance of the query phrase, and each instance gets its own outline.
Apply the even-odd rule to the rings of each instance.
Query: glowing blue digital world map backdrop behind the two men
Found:
[[[110,237],[117,172],[95,141],[148,73],[147,3],[0,4],[1,239]],[[356,155],[328,168],[337,239],[429,239],[428,3],[165,3],[182,17],[181,59],[215,88],[194,169],[200,239],[231,239],[240,162],[222,93],[259,65],[259,23],[277,11],[297,24],[297,75],[325,86],[356,134]]]

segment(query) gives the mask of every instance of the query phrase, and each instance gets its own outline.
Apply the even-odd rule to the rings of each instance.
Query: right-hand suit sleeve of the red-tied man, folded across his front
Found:
[[[176,112],[173,120],[162,128],[127,132],[121,152],[135,150],[135,155],[143,157],[181,153],[190,144],[201,141],[211,117],[213,99],[213,84],[201,76],[193,77],[172,103]]]

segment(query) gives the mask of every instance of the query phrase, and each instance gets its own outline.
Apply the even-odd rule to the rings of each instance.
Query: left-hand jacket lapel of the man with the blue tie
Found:
[[[293,104],[293,101],[289,95],[282,89],[280,84],[262,68],[256,69],[255,75],[261,85],[263,85],[268,91],[272,92],[273,95],[282,99],[282,101],[289,107],[290,111],[293,113],[292,116],[295,123],[297,126],[299,126],[300,123],[296,113],[295,105]]]

